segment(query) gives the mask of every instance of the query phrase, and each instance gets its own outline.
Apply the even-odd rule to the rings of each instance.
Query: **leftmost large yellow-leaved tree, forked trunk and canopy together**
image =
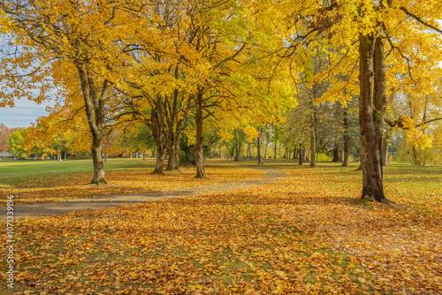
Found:
[[[1,6],[4,32],[23,49],[19,56],[4,58],[9,67],[4,68],[3,79],[18,96],[31,97],[29,88],[40,88],[41,95],[31,97],[40,101],[57,83],[50,78],[60,77],[60,72],[74,75],[92,136],[91,183],[106,183],[102,158],[106,100],[125,63],[118,55],[121,41],[133,34],[136,24],[114,1],[2,1]],[[13,99],[8,92],[4,98]]]

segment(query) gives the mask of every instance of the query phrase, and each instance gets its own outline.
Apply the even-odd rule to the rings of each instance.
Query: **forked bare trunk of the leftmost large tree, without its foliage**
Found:
[[[94,177],[91,184],[106,184],[104,178],[104,163],[102,157],[103,144],[103,128],[104,128],[104,102],[107,98],[109,90],[109,81],[105,79],[101,94],[98,95],[95,89],[95,81],[88,71],[87,64],[81,64],[79,61],[74,62],[79,72],[81,92],[85,102],[86,117],[90,133],[92,135],[91,154],[94,164]]]

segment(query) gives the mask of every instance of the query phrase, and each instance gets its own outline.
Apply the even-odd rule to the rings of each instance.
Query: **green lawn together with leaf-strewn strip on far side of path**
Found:
[[[0,161],[0,194],[14,195],[16,204],[80,199],[97,195],[160,192],[198,185],[216,185],[265,175],[260,170],[231,165],[208,166],[210,179],[194,179],[194,167],[166,172],[167,177],[151,175],[155,159],[109,159],[105,163],[108,185],[90,185],[92,160]],[[4,200],[4,199],[3,199]],[[4,204],[2,204],[4,206]]]

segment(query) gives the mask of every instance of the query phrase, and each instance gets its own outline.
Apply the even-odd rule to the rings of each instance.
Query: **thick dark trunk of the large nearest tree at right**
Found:
[[[387,202],[381,165],[386,107],[384,42],[380,37],[361,34],[359,50],[362,199]]]

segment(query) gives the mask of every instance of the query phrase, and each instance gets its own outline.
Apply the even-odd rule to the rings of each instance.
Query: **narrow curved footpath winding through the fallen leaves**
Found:
[[[111,208],[146,201],[160,200],[164,198],[185,198],[204,193],[232,191],[252,185],[265,185],[272,181],[277,181],[280,178],[286,177],[286,172],[282,170],[255,167],[253,169],[264,170],[267,172],[267,174],[263,178],[230,182],[221,185],[195,186],[185,190],[174,190],[170,192],[119,194],[112,196],[98,196],[88,199],[47,202],[42,204],[14,205],[14,219],[23,218],[25,216],[53,216],[72,211]],[[3,216],[6,216],[6,207],[3,208],[3,211]]]

